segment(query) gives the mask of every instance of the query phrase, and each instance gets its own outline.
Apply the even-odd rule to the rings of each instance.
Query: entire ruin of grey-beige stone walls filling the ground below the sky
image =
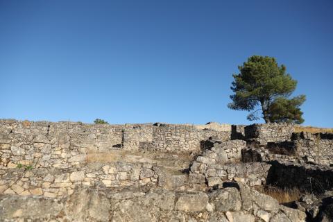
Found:
[[[332,221],[333,135],[294,128],[3,119],[0,221]]]

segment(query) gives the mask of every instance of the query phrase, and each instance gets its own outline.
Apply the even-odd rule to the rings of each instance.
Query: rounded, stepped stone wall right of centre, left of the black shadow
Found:
[[[230,180],[246,182],[250,186],[265,184],[271,165],[264,162],[242,163],[241,151],[246,147],[244,141],[212,143],[213,146],[196,157],[191,165],[190,182],[207,182],[210,187]]]

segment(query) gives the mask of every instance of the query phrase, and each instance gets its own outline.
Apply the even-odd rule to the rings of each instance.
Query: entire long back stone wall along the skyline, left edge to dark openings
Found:
[[[172,124],[108,125],[0,120],[0,166],[24,164],[35,168],[66,169],[83,164],[88,151],[103,153],[114,149],[198,153],[200,142],[209,137],[227,140],[230,139],[230,132]]]

